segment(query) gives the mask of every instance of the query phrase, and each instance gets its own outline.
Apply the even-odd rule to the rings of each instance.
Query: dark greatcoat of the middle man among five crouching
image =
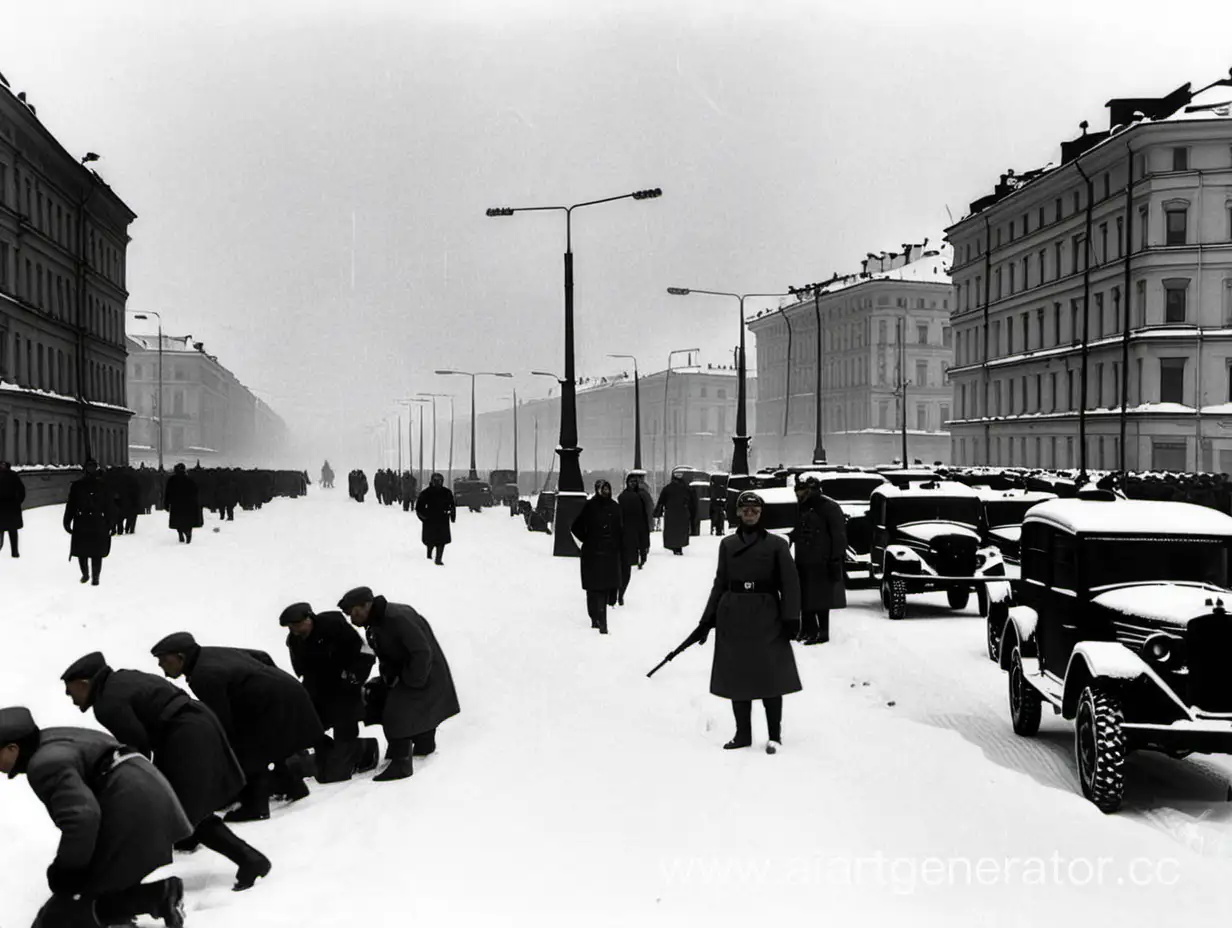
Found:
[[[325,735],[299,680],[249,651],[198,646],[185,654],[184,672],[193,695],[223,723],[249,778]]]

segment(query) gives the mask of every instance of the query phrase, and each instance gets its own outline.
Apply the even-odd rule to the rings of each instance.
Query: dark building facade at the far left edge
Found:
[[[136,214],[0,81],[0,460],[123,463]]]

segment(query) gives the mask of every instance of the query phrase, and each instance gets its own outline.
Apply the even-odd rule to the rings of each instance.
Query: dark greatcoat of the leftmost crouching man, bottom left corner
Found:
[[[111,767],[120,746],[90,728],[43,728],[26,776],[60,829],[55,864],[83,875],[79,891],[117,892],[171,863],[171,845],[192,833],[170,784],[133,755]]]

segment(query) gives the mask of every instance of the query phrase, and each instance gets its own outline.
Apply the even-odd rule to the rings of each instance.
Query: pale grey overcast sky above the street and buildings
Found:
[[[1232,67],[1227,2],[39,0],[2,23],[14,91],[138,214],[128,308],[325,452],[399,397],[467,393],[436,367],[524,396],[563,367],[563,218],[489,206],[662,187],[574,214],[578,373],[727,362],[734,303],[665,287],[936,242],[1109,97]],[[503,393],[480,381],[480,410]]]

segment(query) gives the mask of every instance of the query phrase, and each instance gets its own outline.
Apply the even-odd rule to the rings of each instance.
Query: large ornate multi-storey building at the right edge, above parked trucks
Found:
[[[954,458],[1232,472],[1232,81],[1106,106],[946,230]]]

